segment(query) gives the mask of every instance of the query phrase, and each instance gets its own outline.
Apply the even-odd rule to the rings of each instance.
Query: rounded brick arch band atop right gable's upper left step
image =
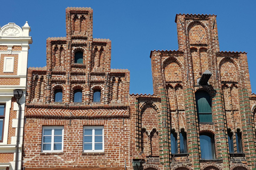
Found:
[[[162,65],[163,65],[163,70],[162,70],[162,74],[163,74],[163,77],[164,77],[164,81],[166,82],[166,75],[165,75],[165,69],[168,65],[172,64],[172,63],[175,63],[179,66],[179,69],[180,69],[180,74],[178,74],[181,78],[180,81],[183,81],[185,79],[184,75],[183,74],[183,71],[184,71],[184,67],[182,65],[182,63],[178,60],[178,58],[174,57],[174,56],[169,56],[168,58],[166,58]]]

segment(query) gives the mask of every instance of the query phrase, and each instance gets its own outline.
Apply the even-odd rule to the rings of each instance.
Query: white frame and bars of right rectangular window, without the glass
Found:
[[[85,150],[84,149],[84,130],[85,129],[92,129],[92,150]],[[102,129],[102,150],[95,150],[95,129]],[[104,152],[104,126],[84,126],[83,128],[83,152]]]

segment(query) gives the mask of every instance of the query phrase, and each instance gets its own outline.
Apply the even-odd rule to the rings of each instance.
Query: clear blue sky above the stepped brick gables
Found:
[[[247,52],[256,93],[256,1],[12,1],[0,5],[0,26],[28,21],[28,66],[46,65],[46,39],[65,37],[66,7],[93,8],[93,38],[112,41],[111,68],[129,69],[130,93],[153,94],[150,51],[178,49],[177,13],[215,14],[220,50]]]

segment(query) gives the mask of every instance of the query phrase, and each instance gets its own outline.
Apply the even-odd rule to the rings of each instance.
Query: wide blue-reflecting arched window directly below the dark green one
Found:
[[[200,134],[201,159],[215,159],[214,135]]]

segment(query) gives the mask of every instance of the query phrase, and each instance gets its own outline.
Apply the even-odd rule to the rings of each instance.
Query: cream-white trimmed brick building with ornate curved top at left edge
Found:
[[[27,22],[22,28],[11,22],[0,28],[0,169],[21,169],[29,32]]]

